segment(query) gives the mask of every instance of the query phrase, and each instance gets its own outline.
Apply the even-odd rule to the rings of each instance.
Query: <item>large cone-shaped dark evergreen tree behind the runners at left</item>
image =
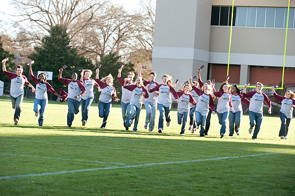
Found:
[[[53,87],[56,91],[60,87],[66,89],[66,86],[58,81],[59,68],[64,64],[67,65],[67,68],[62,72],[62,78],[71,79],[72,73],[75,72],[78,74],[78,79],[80,79],[79,70],[82,68],[95,72],[95,65],[91,60],[79,56],[76,49],[70,46],[70,38],[61,26],[54,26],[48,32],[49,35],[42,38],[41,47],[35,47],[35,52],[28,57],[35,61],[32,64],[33,71],[53,72]]]

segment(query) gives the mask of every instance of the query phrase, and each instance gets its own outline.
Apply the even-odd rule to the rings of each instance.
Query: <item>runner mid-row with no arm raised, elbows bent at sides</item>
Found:
[[[182,91],[183,90],[183,91]],[[177,122],[180,125],[182,122],[182,127],[180,131],[180,135],[184,135],[185,125],[187,121],[187,113],[190,109],[190,104],[197,105],[196,100],[194,100],[193,96],[190,93],[192,87],[189,84],[185,84],[181,91],[177,91],[177,95],[179,99],[177,100]]]

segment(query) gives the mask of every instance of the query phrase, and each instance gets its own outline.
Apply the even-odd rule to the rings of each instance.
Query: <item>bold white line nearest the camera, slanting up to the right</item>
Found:
[[[31,174],[26,174],[26,175],[0,176],[0,179],[16,179],[16,178],[35,177],[35,176],[44,176],[44,175],[55,175],[55,174],[63,174],[63,173],[78,173],[78,172],[84,172],[84,171],[96,171],[96,170],[120,169],[120,168],[139,168],[139,167],[149,167],[149,166],[156,166],[156,165],[181,164],[181,163],[192,163],[192,162],[200,162],[200,161],[215,161],[215,160],[223,160],[223,159],[236,159],[236,158],[243,158],[243,157],[255,157],[255,156],[264,156],[264,155],[271,155],[271,154],[293,153],[293,152],[295,152],[295,150],[294,151],[289,151],[289,152],[273,152],[273,153],[264,153],[264,154],[241,155],[241,156],[235,156],[235,157],[218,157],[218,158],[212,158],[212,159],[199,159],[199,160],[189,160],[189,161],[149,163],[149,164],[130,165],[130,166],[78,169],[78,170],[56,171],[56,172],[35,173],[35,174],[31,173]]]

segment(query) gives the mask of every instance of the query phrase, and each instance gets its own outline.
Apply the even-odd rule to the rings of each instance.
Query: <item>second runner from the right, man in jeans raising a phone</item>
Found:
[[[255,125],[252,140],[257,139],[257,135],[260,130],[260,126],[263,118],[263,102],[268,106],[268,113],[271,114],[271,103],[269,98],[265,93],[262,92],[263,84],[256,83],[256,90],[246,93],[247,84],[244,85],[243,97],[250,97],[249,105],[249,118],[250,118],[250,128],[249,134],[252,133],[253,127]]]

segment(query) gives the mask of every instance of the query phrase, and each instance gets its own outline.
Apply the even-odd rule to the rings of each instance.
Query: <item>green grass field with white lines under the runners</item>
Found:
[[[85,127],[81,113],[66,126],[66,103],[49,102],[43,127],[33,100],[24,100],[17,126],[9,98],[0,97],[1,196],[294,196],[295,120],[288,140],[278,137],[279,117],[265,116],[257,140],[244,115],[240,136],[220,139],[217,115],[208,137],[186,128],[180,136],[177,111],[163,134],[144,127],[123,128],[121,109],[113,106],[105,130],[97,104]],[[157,111],[156,125],[158,123]],[[133,126],[131,127],[133,128]],[[197,131],[199,133],[199,130]]]

